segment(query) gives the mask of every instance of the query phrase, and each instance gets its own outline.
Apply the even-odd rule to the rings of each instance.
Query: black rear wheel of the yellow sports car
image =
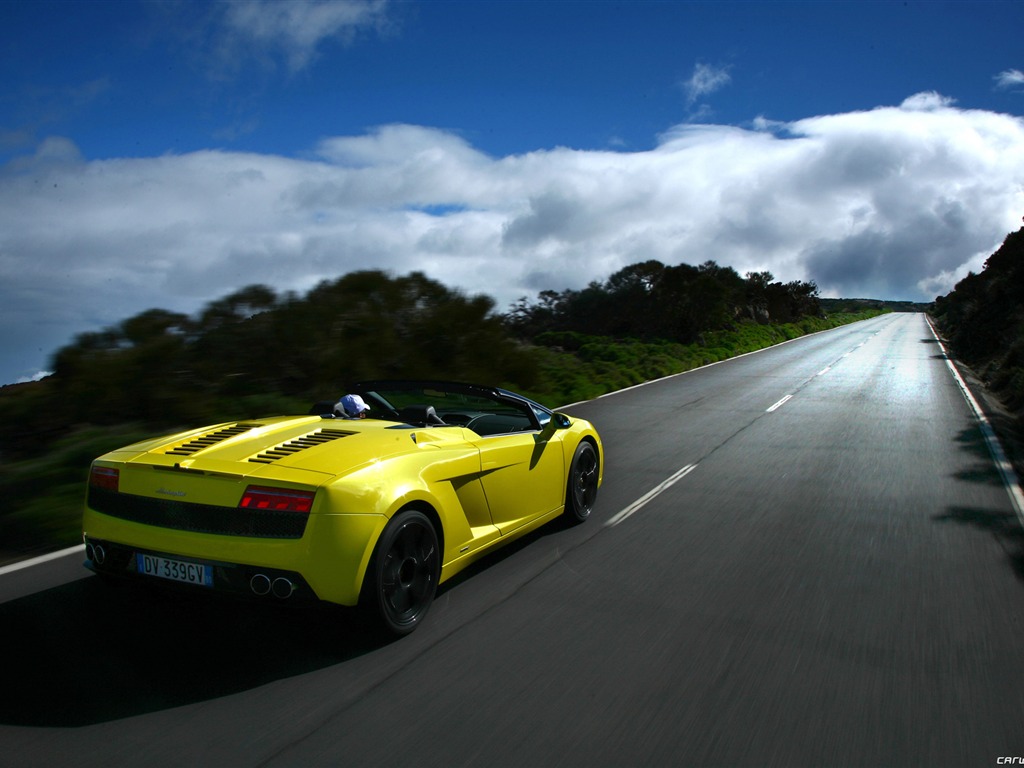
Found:
[[[391,518],[364,591],[364,607],[379,628],[402,636],[420,626],[437,591],[440,562],[437,531],[425,514],[410,509]]]

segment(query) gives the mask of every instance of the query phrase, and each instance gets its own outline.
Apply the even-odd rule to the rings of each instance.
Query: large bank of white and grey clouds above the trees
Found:
[[[0,169],[0,323],[16,340],[0,381],[151,307],[354,269],[423,270],[499,308],[646,259],[928,301],[1019,227],[1021,178],[1024,121],[938,94],[752,130],[684,124],[636,153],[496,158],[389,125],[305,158],[100,161],[53,137]]]

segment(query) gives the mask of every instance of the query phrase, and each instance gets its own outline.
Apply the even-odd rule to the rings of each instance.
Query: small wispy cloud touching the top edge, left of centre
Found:
[[[362,31],[379,29],[387,0],[251,0],[227,3],[224,28],[239,45],[263,46],[284,53],[292,72],[305,69],[326,40],[350,42]]]

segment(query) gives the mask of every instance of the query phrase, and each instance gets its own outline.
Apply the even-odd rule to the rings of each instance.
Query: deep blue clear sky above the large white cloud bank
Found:
[[[0,3],[4,131],[67,135],[89,159],[300,156],[325,135],[408,123],[504,156],[645,150],[694,119],[787,122],[923,91],[1024,106],[994,80],[1024,67],[1017,2],[432,0],[368,5],[361,24],[305,43],[244,37],[226,7]],[[727,80],[691,100],[697,67]],[[4,138],[8,158],[26,150]]]

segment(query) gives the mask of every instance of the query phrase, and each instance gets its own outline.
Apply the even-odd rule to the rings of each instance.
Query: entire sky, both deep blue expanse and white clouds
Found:
[[[646,258],[927,301],[1024,214],[1024,3],[0,2],[0,383],[252,283]]]

